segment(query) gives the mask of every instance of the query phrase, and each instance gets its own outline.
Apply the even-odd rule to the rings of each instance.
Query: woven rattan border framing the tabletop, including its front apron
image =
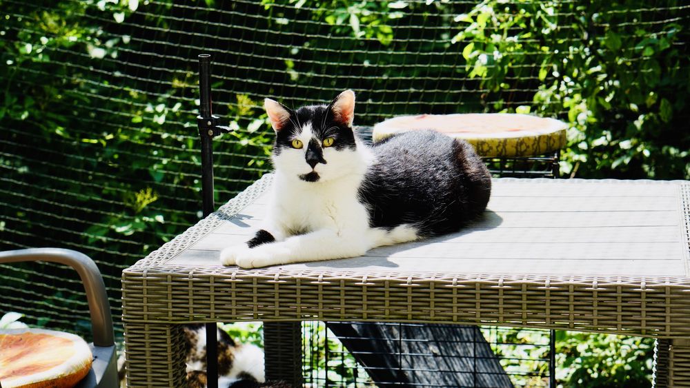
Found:
[[[347,271],[290,271],[280,268],[268,269],[239,269],[237,267],[204,267],[195,268],[181,265],[166,264],[170,258],[186,247],[198,241],[222,221],[234,216],[246,205],[257,198],[270,184],[270,175],[257,181],[248,190],[239,194],[233,200],[223,205],[218,212],[200,221],[194,227],[190,227],[187,232],[181,234],[170,243],[152,252],[146,259],[139,261],[136,265],[123,272],[123,318],[126,323],[188,323],[188,322],[211,322],[214,320],[376,320],[376,321],[410,321],[415,322],[435,322],[435,323],[475,323],[493,324],[508,326],[529,326],[553,329],[575,329],[578,331],[599,331],[617,334],[635,334],[642,336],[657,336],[659,338],[690,338],[690,278],[687,276],[553,276],[540,274],[506,274],[497,276],[496,274],[435,274],[433,272],[415,272],[404,274],[400,272],[362,272],[361,269],[353,272]],[[504,178],[506,181],[513,181],[513,178]],[[539,182],[532,180],[531,182]],[[629,183],[631,181],[605,180],[609,183]],[[553,183],[553,180],[544,180]],[[573,181],[561,181],[571,183]],[[580,181],[582,182],[582,181]],[[591,182],[591,181],[585,181]],[[637,184],[654,183],[660,181],[633,181]],[[682,214],[685,217],[685,232],[688,233],[689,207],[687,204],[690,183],[687,181],[662,181],[661,183],[677,184],[681,190]],[[689,249],[690,251],[690,244]],[[357,277],[355,277],[355,275]],[[212,283],[210,288],[204,286],[195,289],[194,293],[211,294],[211,299],[217,298],[217,304],[213,301],[206,308],[212,312],[209,314],[199,314],[200,309],[204,309],[204,303],[200,303],[197,311],[180,312],[173,309],[173,304],[190,302],[186,295],[172,296],[173,283],[180,283],[181,288],[188,283]],[[192,286],[193,287],[193,286]],[[205,288],[206,287],[206,288]],[[331,290],[332,288],[332,290]],[[380,312],[370,312],[366,305],[376,303],[376,292],[372,289],[382,289],[382,293],[400,292],[404,294],[406,290],[415,290],[415,298],[427,296],[428,305],[424,309],[429,311],[431,316],[424,314],[409,314],[407,318],[396,314],[380,314]],[[354,295],[346,296],[344,291],[354,292]],[[434,300],[434,293],[438,296],[447,295],[447,290],[451,293],[460,295],[475,296],[470,297],[469,301],[477,306],[482,303],[495,303],[495,308],[480,311],[476,308],[474,316],[468,314],[474,309],[471,303],[465,303],[464,307],[457,310],[452,307],[453,303],[444,303],[442,300]],[[299,291],[298,291],[299,290]],[[276,307],[275,303],[281,303],[277,294],[290,294],[302,292],[304,297],[312,296],[313,292],[337,291],[341,296],[332,298],[336,305],[342,307],[337,312],[331,309],[328,314],[324,314],[324,309],[318,308],[318,302],[311,306],[299,305],[295,300],[284,302],[281,308]],[[446,292],[444,292],[446,290]],[[607,292],[612,292],[607,294]],[[192,289],[189,289],[192,295]],[[233,296],[228,299],[228,295],[233,292],[246,292],[252,294],[252,300]],[[367,294],[368,292],[368,294]],[[142,294],[143,293],[143,294]],[[262,299],[260,294],[266,294],[267,299]],[[273,295],[272,295],[273,294]],[[359,295],[359,297],[357,296]],[[528,295],[529,298],[527,297]],[[632,318],[624,316],[628,314],[616,303],[611,304],[611,298],[621,298],[626,295],[625,303],[629,306],[640,304],[642,309],[635,309]],[[527,307],[532,303],[546,303],[549,312],[541,312],[533,317],[531,309]],[[576,296],[576,298],[575,298]],[[632,297],[635,296],[635,297]],[[601,307],[593,310],[577,307],[580,300],[591,300],[598,303],[598,300],[609,298],[609,305],[602,302]],[[368,300],[367,300],[368,298]],[[379,295],[379,298],[382,298]],[[481,298],[486,299],[482,302]],[[522,299],[520,299],[522,298]],[[569,298],[569,302],[564,302]],[[203,298],[202,298],[203,299]],[[275,301],[276,299],[277,302]],[[324,296],[324,299],[328,299]],[[499,300],[500,299],[500,300]],[[577,300],[576,300],[577,299]],[[198,299],[197,299],[198,300]],[[230,306],[223,305],[228,300],[232,300]],[[415,299],[416,300],[416,299]],[[299,300],[297,300],[299,302]],[[146,307],[139,308],[137,305],[146,303]],[[293,305],[290,306],[290,303]],[[328,302],[326,302],[328,303]],[[524,307],[520,307],[520,304]],[[549,307],[549,303],[553,303]],[[661,312],[662,303],[665,311]],[[403,303],[404,304],[404,303]],[[435,304],[435,306],[434,306]],[[461,303],[462,304],[462,303]],[[647,304],[649,311],[647,311]],[[257,305],[266,305],[269,308],[266,312],[259,312]],[[274,305],[274,306],[272,306]],[[316,306],[316,307],[315,307]],[[468,307],[469,306],[469,307]],[[611,319],[611,309],[618,306],[618,320]],[[220,307],[215,311],[216,307]],[[323,307],[323,306],[321,306]],[[391,308],[400,306],[391,306]],[[402,307],[401,307],[402,308]],[[448,314],[450,309],[455,308],[455,315]],[[226,311],[223,311],[226,309]],[[227,310],[235,312],[228,314]],[[513,312],[511,312],[511,309]],[[328,311],[328,307],[325,309]],[[538,309],[537,309],[538,310]],[[537,311],[535,310],[535,311]],[[598,316],[598,312],[607,312]],[[586,316],[586,314],[593,316]],[[173,314],[175,312],[175,314]],[[435,314],[435,316],[434,316]],[[522,314],[520,319],[511,317],[511,314]],[[584,320],[581,316],[584,314]],[[607,315],[608,314],[608,315]],[[564,319],[564,316],[571,316],[571,319]],[[615,315],[615,314],[613,314]],[[681,316],[682,318],[678,318]],[[544,319],[538,319],[542,317]],[[575,318],[577,317],[577,318]],[[687,318],[686,318],[687,317]],[[580,319],[580,320],[578,320]],[[629,319],[629,320],[626,320]],[[552,320],[553,322],[549,322]],[[671,322],[673,320],[673,322]],[[600,323],[598,323],[600,321]],[[614,322],[615,321],[615,322]],[[584,322],[584,323],[583,323]],[[615,325],[611,323],[614,322]],[[631,325],[629,325],[631,323]],[[603,325],[602,325],[603,324]],[[599,327],[598,325],[601,325]],[[636,327],[627,329],[628,326]]]

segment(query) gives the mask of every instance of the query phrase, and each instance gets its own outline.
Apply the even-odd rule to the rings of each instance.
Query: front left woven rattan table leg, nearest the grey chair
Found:
[[[127,387],[186,387],[181,325],[124,327]]]

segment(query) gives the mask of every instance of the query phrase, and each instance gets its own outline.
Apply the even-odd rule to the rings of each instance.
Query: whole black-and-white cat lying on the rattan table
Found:
[[[489,171],[464,141],[415,131],[364,145],[352,90],[330,105],[264,106],[276,133],[268,215],[254,238],[221,252],[224,265],[360,256],[455,232],[489,202]]]

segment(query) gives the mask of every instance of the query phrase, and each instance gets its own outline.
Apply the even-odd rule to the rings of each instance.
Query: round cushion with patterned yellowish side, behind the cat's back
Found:
[[[464,139],[480,156],[538,156],[566,145],[566,127],[562,121],[529,114],[420,114],[378,123],[374,126],[373,141],[410,130],[436,130]]]

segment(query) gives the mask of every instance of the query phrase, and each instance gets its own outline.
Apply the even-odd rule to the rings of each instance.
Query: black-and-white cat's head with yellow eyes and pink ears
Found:
[[[326,182],[354,172],[357,152],[352,123],[355,93],[346,90],[329,105],[290,110],[271,99],[264,101],[276,133],[276,170],[306,182]]]

